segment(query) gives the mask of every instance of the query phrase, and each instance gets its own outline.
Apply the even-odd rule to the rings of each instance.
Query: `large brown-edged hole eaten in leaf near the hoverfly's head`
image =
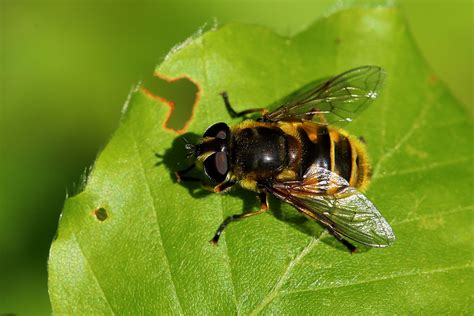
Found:
[[[142,91],[148,97],[169,107],[163,128],[176,134],[184,134],[201,99],[200,85],[187,75],[170,78],[155,73],[145,80]]]

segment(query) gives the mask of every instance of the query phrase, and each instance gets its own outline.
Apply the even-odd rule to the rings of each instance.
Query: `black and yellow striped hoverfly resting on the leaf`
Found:
[[[232,117],[254,112],[261,117],[232,127],[216,123],[199,144],[187,143],[186,149],[218,183],[212,191],[235,185],[255,191],[260,210],[227,217],[211,242],[217,243],[231,222],[266,212],[271,194],[322,224],[351,251],[356,247],[350,241],[390,246],[395,241],[392,228],[361,193],[371,175],[365,144],[336,127],[377,98],[383,79],[380,67],[354,68],[298,90],[274,111],[237,113],[222,93]],[[194,166],[177,172],[178,181],[196,180],[185,176]]]

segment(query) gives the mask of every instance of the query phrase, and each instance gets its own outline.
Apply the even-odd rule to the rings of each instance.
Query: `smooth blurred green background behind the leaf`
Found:
[[[340,4],[0,0],[0,314],[50,313],[46,263],[66,191],[169,49],[214,18],[290,35]],[[472,1],[400,6],[422,54],[472,114]]]

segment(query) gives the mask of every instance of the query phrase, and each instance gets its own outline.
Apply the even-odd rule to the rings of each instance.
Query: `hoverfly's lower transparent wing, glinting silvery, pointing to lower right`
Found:
[[[392,228],[374,204],[337,174],[310,170],[302,181],[274,183],[273,195],[336,233],[370,247],[395,241]]]

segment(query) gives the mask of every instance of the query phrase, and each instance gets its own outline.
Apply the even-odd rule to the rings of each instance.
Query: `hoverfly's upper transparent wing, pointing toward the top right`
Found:
[[[322,83],[306,85],[262,119],[312,120],[320,124],[344,125],[377,98],[384,77],[384,71],[378,66],[348,70]]]

